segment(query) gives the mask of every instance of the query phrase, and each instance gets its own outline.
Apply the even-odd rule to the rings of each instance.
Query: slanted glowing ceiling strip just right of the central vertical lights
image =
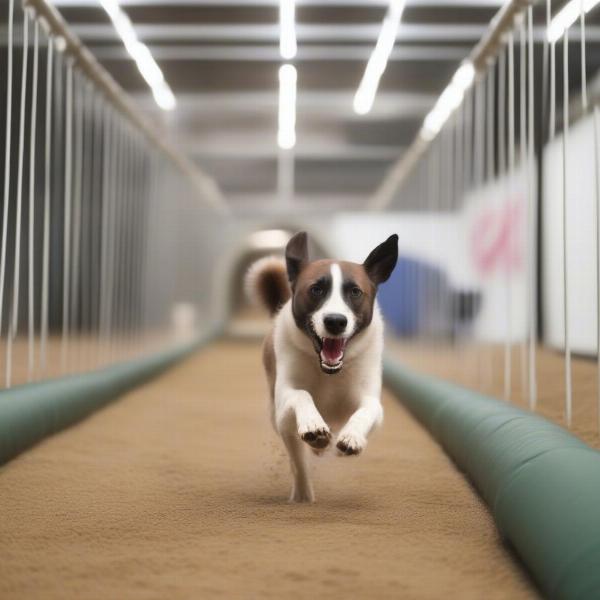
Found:
[[[363,78],[354,95],[354,112],[367,114],[373,107],[379,80],[385,71],[387,61],[394,48],[398,25],[404,11],[405,0],[391,0],[375,48],[369,57]]]

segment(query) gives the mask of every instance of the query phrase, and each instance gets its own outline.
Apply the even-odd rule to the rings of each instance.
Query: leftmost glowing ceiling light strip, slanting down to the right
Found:
[[[135,61],[142,77],[150,86],[156,104],[163,110],[173,110],[176,104],[175,96],[148,50],[148,46],[138,40],[133,25],[119,6],[118,0],[100,0],[100,4],[110,17],[125,49]]]

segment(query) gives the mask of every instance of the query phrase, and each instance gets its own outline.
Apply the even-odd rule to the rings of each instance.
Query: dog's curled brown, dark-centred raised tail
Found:
[[[246,273],[245,287],[253,304],[274,315],[291,296],[283,257],[265,256],[253,263]]]

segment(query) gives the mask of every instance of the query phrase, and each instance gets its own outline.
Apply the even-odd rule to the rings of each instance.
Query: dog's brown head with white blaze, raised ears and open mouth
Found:
[[[371,323],[377,286],[398,260],[398,236],[375,248],[363,264],[308,258],[307,235],[297,233],[285,250],[292,313],[313,343],[323,372],[338,373],[346,346]]]

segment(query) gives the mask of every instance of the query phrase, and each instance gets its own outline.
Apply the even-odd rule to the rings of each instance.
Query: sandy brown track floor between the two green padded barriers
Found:
[[[286,502],[256,344],[222,342],[0,469],[0,598],[535,598],[389,394],[358,458]]]

